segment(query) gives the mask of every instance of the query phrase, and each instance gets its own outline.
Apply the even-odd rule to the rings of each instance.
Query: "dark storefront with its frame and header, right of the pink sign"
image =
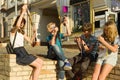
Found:
[[[80,31],[84,23],[90,22],[90,1],[89,0],[71,0],[73,6],[73,31]]]

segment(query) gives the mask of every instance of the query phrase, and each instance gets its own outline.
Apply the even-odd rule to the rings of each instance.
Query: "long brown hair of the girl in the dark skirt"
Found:
[[[15,22],[14,22],[14,24],[13,24],[13,28],[11,29],[11,32],[12,32],[12,33],[14,33],[14,32],[16,31],[16,29],[17,29],[16,24],[17,24],[17,22],[18,22],[19,17],[20,17],[20,16],[17,16],[17,18],[15,19]],[[23,23],[24,26],[23,26],[23,27],[20,27],[20,28],[18,29],[18,32],[24,34],[24,33],[25,33],[24,27],[25,27],[25,24],[26,24],[25,18],[22,18],[21,23]]]

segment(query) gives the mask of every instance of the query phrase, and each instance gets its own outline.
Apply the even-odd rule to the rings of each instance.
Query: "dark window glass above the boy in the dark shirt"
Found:
[[[88,1],[74,6],[74,28],[79,31],[82,25],[87,22],[90,22],[90,5]]]

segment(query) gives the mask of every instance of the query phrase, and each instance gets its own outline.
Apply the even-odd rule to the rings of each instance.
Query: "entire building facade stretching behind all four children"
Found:
[[[5,37],[5,32],[9,36],[9,31],[21,5],[26,0],[1,0],[0,3],[0,37]],[[56,22],[60,26],[62,16],[67,14],[69,26],[74,32],[80,30],[82,25],[91,22],[95,28],[100,28],[105,21],[112,19],[117,21],[117,12],[111,11],[112,0],[27,0],[32,22],[37,28],[37,41],[45,42],[45,37],[49,34],[46,25],[49,22]],[[26,14],[27,15],[27,14]],[[3,19],[7,21],[7,30],[4,30]],[[110,17],[111,18],[111,17]],[[32,26],[29,17],[26,16],[26,33],[32,36]],[[61,29],[61,28],[60,28]],[[94,30],[93,30],[94,31]]]

